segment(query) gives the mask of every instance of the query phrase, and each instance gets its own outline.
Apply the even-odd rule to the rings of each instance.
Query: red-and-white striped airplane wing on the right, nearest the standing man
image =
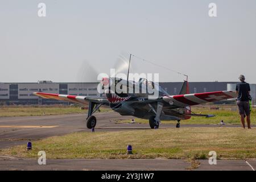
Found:
[[[236,92],[218,91],[218,92],[181,94],[176,96],[164,96],[163,100],[168,102],[170,105],[184,107],[184,106],[205,104],[207,102],[228,100],[230,98],[236,98],[236,97],[237,97]]]

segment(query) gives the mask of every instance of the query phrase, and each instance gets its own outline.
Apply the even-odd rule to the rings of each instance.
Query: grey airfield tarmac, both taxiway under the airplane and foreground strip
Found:
[[[97,113],[96,132],[119,130],[150,130],[148,124],[115,123],[115,119],[132,119],[118,113]],[[26,144],[52,136],[73,132],[90,132],[85,124],[86,114],[43,115],[37,117],[0,118],[0,149],[18,144]],[[161,128],[175,127],[172,124]],[[220,127],[218,125],[182,125],[181,127]],[[223,125],[221,127],[241,127]],[[254,170],[256,160],[218,160],[217,165],[209,165],[208,160],[199,160],[196,170]],[[18,159],[0,156],[0,170],[186,170],[185,160],[168,159],[49,159],[47,165],[40,166],[35,159]]]

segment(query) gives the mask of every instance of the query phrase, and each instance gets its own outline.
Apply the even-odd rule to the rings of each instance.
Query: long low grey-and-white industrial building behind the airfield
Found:
[[[237,82],[189,82],[190,93],[214,92],[217,90],[236,90]],[[159,82],[170,95],[179,94],[183,82]],[[98,82],[0,82],[0,105],[27,105],[27,104],[68,104],[68,102],[47,100],[35,96],[34,92],[69,94],[73,96],[105,97],[97,92]],[[250,84],[253,105],[256,98],[256,84]],[[222,101],[221,103],[234,103]]]

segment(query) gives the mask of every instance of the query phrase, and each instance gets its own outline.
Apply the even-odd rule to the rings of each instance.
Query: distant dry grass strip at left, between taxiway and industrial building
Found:
[[[110,109],[101,108],[101,111]],[[86,113],[81,106],[0,106],[0,117]]]

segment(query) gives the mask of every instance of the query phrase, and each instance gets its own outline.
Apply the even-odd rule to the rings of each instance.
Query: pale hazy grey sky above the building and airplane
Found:
[[[255,0],[0,0],[0,23],[0,82],[94,81],[133,53],[189,81],[238,81],[242,73],[256,83]],[[134,57],[132,65],[160,81],[184,78]]]

